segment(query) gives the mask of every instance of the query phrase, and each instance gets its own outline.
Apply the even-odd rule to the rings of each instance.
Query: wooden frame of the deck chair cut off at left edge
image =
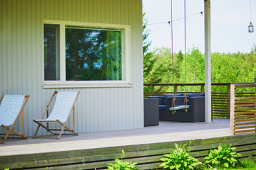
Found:
[[[9,137],[9,135],[12,135],[12,136],[18,136],[18,137],[9,137],[9,138],[18,138],[18,139],[27,139],[27,137],[25,137],[25,132],[24,132],[24,120],[23,120],[23,108],[25,107],[27,101],[28,101],[28,98],[29,98],[30,95],[26,95],[24,98],[26,98],[25,101],[23,101],[23,105],[21,107],[21,110],[19,111],[16,119],[14,120],[14,123],[11,125],[11,128],[5,126],[5,125],[1,125],[1,127],[5,128],[6,130],[8,130],[7,133],[0,133],[0,135],[5,135],[5,137],[1,137],[3,140],[0,141],[0,143],[4,144],[4,142],[6,141],[7,137]],[[1,99],[0,99],[0,103],[1,101],[3,100],[4,98],[4,94],[3,96],[1,96]],[[13,130],[14,128],[14,125],[16,123],[16,121],[18,120],[18,117],[19,115],[21,115],[21,122],[22,122],[22,134],[16,132],[15,130]],[[12,134],[11,132],[13,132],[14,134]],[[11,134],[10,134],[11,133]]]

